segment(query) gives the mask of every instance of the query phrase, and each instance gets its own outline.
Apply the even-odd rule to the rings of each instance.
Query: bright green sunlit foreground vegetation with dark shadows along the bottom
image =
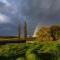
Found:
[[[0,45],[0,60],[60,60],[60,42]]]

